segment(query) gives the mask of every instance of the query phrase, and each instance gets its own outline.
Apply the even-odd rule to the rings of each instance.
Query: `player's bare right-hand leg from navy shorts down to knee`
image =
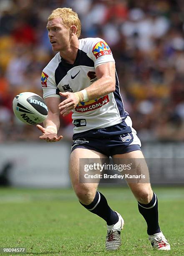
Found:
[[[126,170],[126,174],[135,175],[136,178],[129,178],[132,176],[127,175],[126,182],[139,202],[150,202],[153,192],[149,182],[148,166],[142,151],[136,150],[126,154],[114,155],[113,162],[116,164],[131,164],[131,169]]]

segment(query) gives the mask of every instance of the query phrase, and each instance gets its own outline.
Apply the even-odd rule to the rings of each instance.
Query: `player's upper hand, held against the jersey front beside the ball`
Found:
[[[63,100],[59,104],[60,115],[66,116],[71,110],[76,108],[79,102],[79,97],[73,92],[60,92],[60,96],[66,97],[66,100]]]

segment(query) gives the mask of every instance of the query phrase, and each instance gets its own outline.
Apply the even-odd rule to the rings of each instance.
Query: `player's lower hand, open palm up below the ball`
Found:
[[[43,135],[39,137],[41,140],[45,140],[47,142],[55,142],[60,141],[63,138],[61,135],[58,137],[57,133],[54,133],[52,129],[44,128],[41,125],[36,125],[36,127],[43,133]]]

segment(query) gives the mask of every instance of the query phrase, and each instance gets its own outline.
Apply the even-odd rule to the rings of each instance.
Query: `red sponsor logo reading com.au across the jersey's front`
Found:
[[[76,108],[76,112],[88,112],[91,110],[96,110],[97,108],[101,108],[103,105],[107,104],[109,102],[108,95],[101,97],[99,99],[90,100],[86,102],[80,102]]]

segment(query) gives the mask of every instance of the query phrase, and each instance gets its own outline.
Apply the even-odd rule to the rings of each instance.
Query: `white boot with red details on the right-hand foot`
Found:
[[[169,251],[171,249],[170,244],[162,232],[149,236],[148,239],[151,242],[153,248],[157,250]]]

